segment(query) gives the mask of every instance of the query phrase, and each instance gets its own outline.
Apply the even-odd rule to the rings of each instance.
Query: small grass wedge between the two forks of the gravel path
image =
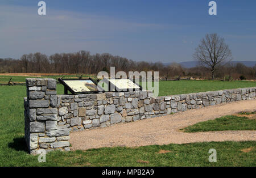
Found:
[[[214,120],[199,122],[182,129],[184,132],[209,132],[221,130],[256,130],[256,112],[223,116]]]

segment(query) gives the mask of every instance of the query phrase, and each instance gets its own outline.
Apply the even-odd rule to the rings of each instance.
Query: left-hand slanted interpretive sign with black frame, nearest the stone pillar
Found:
[[[59,82],[65,87],[65,95],[70,91],[75,94],[92,94],[98,93],[97,83],[93,79],[61,79]],[[102,89],[102,88],[101,88]],[[103,89],[101,91],[104,91]]]

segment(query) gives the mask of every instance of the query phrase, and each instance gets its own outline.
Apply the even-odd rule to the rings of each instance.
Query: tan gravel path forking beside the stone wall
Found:
[[[215,105],[163,117],[70,134],[72,150],[112,146],[166,145],[204,141],[256,141],[256,131],[183,133],[180,128],[241,111],[255,111],[256,100]]]

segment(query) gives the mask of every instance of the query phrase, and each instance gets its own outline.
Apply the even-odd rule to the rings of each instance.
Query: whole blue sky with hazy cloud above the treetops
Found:
[[[1,0],[0,57],[89,50],[135,61],[192,61],[206,33],[224,37],[236,61],[256,60],[256,1]]]

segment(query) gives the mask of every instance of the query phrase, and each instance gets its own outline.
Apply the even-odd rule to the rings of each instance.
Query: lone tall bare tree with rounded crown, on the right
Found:
[[[225,44],[224,38],[213,33],[205,35],[196,48],[193,57],[200,65],[210,70],[213,80],[214,71],[216,71],[219,66],[231,61],[232,53],[229,46]]]

